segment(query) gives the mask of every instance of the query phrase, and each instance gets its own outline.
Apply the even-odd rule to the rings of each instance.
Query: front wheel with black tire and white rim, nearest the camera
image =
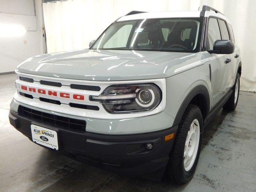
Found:
[[[196,141],[197,143],[195,144],[195,147],[194,147],[194,149],[196,149],[196,146],[197,146],[197,149],[196,149],[197,151],[193,153],[192,148],[194,145],[190,144],[190,142],[189,144],[190,146],[193,145],[192,147],[189,147],[189,146],[187,147],[185,145],[188,141],[190,141],[190,139],[187,138],[189,137],[188,132],[190,131],[190,129],[193,130],[193,128],[190,128],[190,127],[192,126],[192,124],[195,124],[195,123],[199,125],[199,128],[196,127],[197,134],[196,133],[194,134],[196,136],[191,137],[191,139],[193,138],[191,142],[193,142],[194,144],[194,141]],[[184,184],[192,178],[195,172],[196,165],[198,163],[198,158],[201,151],[202,131],[203,131],[203,118],[202,118],[201,110],[198,106],[189,104],[178,126],[178,131],[176,134],[174,145],[169,155],[170,159],[166,167],[166,172],[164,174],[164,178],[166,178],[166,180],[170,182],[174,182],[175,184]],[[190,166],[187,166],[188,159],[186,159],[185,157],[186,149],[190,149],[190,154],[191,153],[194,154],[193,155],[194,160],[193,162],[191,161],[192,163],[190,163],[191,164]],[[186,152],[188,152],[188,150],[186,150]]]

